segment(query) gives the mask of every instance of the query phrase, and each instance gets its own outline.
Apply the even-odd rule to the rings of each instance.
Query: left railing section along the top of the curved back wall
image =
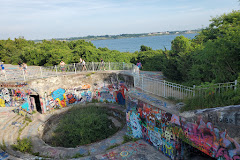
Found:
[[[47,78],[62,74],[76,74],[85,71],[104,71],[104,70],[128,70],[132,74],[135,65],[124,62],[86,62],[85,67],[80,63],[66,64],[64,68],[60,65],[55,66],[29,66],[26,70],[6,68],[6,74],[1,75],[0,81],[27,81],[30,79]]]

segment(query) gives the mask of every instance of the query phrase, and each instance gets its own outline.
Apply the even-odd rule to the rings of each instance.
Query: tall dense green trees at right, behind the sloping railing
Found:
[[[144,69],[162,71],[172,81],[188,85],[234,81],[240,72],[240,11],[212,18],[194,39],[178,36],[171,50],[141,46],[134,53]]]

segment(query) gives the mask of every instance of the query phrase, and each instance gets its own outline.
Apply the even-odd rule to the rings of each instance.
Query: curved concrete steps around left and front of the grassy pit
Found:
[[[69,108],[71,107],[56,110],[54,114],[61,113]],[[36,113],[33,115],[32,122],[29,122],[25,120],[25,117],[17,115],[11,110],[4,114],[1,114],[0,110],[0,160],[71,159],[76,154],[88,156],[77,159],[86,159],[89,158],[89,155],[91,158],[96,159],[97,155],[107,153],[108,151],[106,149],[109,146],[121,144],[123,142],[126,126],[113,136],[89,145],[76,148],[52,147],[41,139],[43,126],[52,115],[52,113]],[[32,153],[37,156],[13,150],[11,145],[16,144],[18,138],[31,138],[33,145]]]

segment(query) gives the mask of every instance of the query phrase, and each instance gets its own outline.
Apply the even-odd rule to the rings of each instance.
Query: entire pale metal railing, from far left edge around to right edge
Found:
[[[30,66],[27,72],[24,70],[8,70],[2,81],[26,81],[30,79],[47,78],[59,76],[62,74],[77,74],[85,71],[104,71],[104,70],[121,70],[124,74],[134,77],[134,86],[144,92],[151,93],[160,97],[176,99],[190,98],[196,95],[221,94],[227,90],[233,90],[237,87],[237,80],[234,82],[210,84],[209,86],[187,87],[180,84],[168,82],[165,80],[147,77],[147,74],[139,74],[136,65],[124,62],[86,62],[85,67],[80,63],[66,64],[64,68],[60,65],[39,67]]]

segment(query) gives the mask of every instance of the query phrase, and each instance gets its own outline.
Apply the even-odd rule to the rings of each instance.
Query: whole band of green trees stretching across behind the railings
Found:
[[[234,81],[240,71],[240,11],[212,18],[211,23],[194,38],[178,36],[170,50],[152,50],[142,45],[134,53],[96,48],[84,40],[43,40],[41,43],[23,38],[0,41],[0,59],[5,63],[52,66],[61,60],[86,62],[136,63],[141,60],[144,70],[162,71],[171,81],[188,85],[203,82]]]

